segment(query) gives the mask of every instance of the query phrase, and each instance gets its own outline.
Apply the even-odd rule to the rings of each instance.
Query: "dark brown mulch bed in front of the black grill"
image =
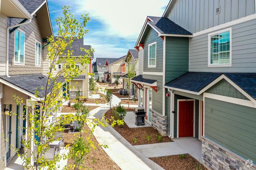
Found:
[[[126,110],[126,112],[132,112],[134,109],[130,108]],[[113,109],[112,109],[113,112]],[[111,111],[108,110],[105,113],[106,118],[111,118]],[[112,121],[109,121],[111,124]],[[134,119],[135,122],[135,119]],[[172,140],[168,136],[163,136],[161,139],[162,141],[158,141],[156,139],[156,135],[160,135],[160,133],[154,129],[153,127],[143,127],[143,128],[129,128],[127,124],[124,122],[124,125],[118,126],[115,124],[113,127],[124,139],[126,139],[132,145],[141,145],[141,144],[153,144],[153,143],[163,143],[163,142],[172,142]],[[146,135],[151,135],[150,140],[147,141]],[[133,139],[137,139],[135,143]]]

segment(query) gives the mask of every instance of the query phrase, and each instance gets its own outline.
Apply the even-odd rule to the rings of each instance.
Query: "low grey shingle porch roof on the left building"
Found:
[[[6,76],[0,76],[0,79],[5,80],[25,91],[35,94],[36,88],[39,97],[45,96],[45,90],[40,88],[46,87],[47,77],[43,74],[24,74],[24,75],[13,75],[11,78]]]

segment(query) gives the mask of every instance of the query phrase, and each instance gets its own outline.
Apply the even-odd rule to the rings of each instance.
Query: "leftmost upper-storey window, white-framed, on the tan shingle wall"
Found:
[[[19,30],[15,30],[14,50],[14,63],[24,65],[25,34]]]

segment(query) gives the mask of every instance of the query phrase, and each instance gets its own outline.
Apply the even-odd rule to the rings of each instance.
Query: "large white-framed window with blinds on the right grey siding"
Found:
[[[231,28],[208,35],[208,66],[231,66]]]

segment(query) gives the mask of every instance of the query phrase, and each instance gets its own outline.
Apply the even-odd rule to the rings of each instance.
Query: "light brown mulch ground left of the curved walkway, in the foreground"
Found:
[[[88,130],[87,133],[83,133],[83,138],[85,139],[87,136],[89,136],[91,131],[89,130],[87,124],[85,124],[83,130]],[[72,144],[75,138],[74,133],[65,133],[64,142],[65,144]],[[96,150],[91,148],[91,152],[87,154],[89,158],[85,159],[83,166],[86,166],[88,169],[92,170],[121,170],[119,166],[108,156],[108,154],[106,154],[106,152],[100,146],[98,146],[98,142],[93,135],[91,136],[91,141],[94,142]],[[67,167],[69,167],[70,164],[71,160],[69,158]]]

